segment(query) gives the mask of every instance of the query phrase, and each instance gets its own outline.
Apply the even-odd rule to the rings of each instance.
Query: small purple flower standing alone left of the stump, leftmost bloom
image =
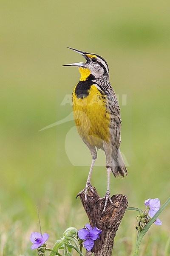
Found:
[[[31,249],[36,249],[40,247],[42,244],[44,244],[48,239],[48,234],[43,233],[42,235],[38,232],[31,233],[30,241],[32,244]]]

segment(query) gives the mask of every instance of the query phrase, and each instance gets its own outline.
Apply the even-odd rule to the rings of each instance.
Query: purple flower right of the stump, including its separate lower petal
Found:
[[[150,218],[152,218],[156,214],[156,212],[159,210],[159,207],[161,206],[159,198],[154,198],[154,199],[149,198],[144,201],[144,204],[149,209],[148,214],[149,214]],[[156,219],[156,221],[154,223],[156,225],[162,224],[162,222],[158,218]]]

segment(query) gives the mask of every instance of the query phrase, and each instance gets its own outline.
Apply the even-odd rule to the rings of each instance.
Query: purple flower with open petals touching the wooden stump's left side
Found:
[[[80,239],[84,240],[84,247],[86,250],[90,251],[94,247],[94,241],[99,238],[99,234],[102,230],[97,227],[92,228],[90,224],[85,224],[86,228],[78,230],[78,236]]]

